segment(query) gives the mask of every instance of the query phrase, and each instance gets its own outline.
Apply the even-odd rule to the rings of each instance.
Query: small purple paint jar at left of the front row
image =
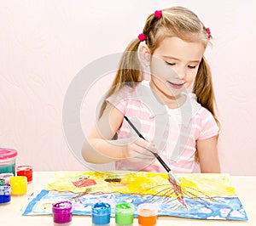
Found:
[[[58,201],[52,206],[53,221],[55,225],[69,224],[72,221],[72,202]]]

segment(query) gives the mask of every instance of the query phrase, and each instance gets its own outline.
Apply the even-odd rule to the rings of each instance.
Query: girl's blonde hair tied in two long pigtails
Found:
[[[166,37],[179,37],[186,42],[202,42],[205,48],[212,38],[207,33],[207,28],[202,24],[197,15],[188,8],[172,7],[162,10],[160,19],[155,18],[154,14],[148,15],[146,24],[143,28],[146,37],[146,44],[151,54],[159,47],[160,42]],[[140,40],[136,38],[125,49],[119,63],[119,69],[113,80],[111,88],[106,94],[106,99],[120,88],[129,85],[135,88],[137,82],[143,80],[142,65],[137,57],[137,50]],[[214,111],[214,92],[212,87],[212,74],[207,65],[207,60],[203,57],[195,77],[193,93],[196,94],[198,102],[212,113],[218,122]],[[100,116],[106,108],[106,101],[102,104]]]

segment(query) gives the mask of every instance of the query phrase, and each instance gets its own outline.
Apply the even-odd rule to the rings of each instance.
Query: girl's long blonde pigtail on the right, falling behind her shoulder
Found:
[[[193,93],[196,94],[198,103],[212,113],[212,116],[219,126],[219,122],[214,110],[215,96],[212,85],[212,72],[205,57],[201,59],[199,69],[195,77]]]

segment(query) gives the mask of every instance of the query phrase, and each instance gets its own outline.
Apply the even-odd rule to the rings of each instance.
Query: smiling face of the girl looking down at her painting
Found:
[[[201,42],[185,42],[166,37],[150,60],[151,88],[172,99],[194,82],[205,47]]]

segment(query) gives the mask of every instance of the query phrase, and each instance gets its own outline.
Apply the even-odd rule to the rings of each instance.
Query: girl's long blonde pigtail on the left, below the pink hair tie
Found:
[[[105,96],[105,101],[102,103],[99,118],[102,116],[103,111],[107,106],[106,99],[108,99],[109,96],[118,92],[125,85],[135,88],[137,82],[141,82],[143,80],[142,65],[137,56],[139,44],[139,39],[135,39],[127,46],[124,54],[122,54],[119,62],[119,69],[116,72],[113,83]]]

